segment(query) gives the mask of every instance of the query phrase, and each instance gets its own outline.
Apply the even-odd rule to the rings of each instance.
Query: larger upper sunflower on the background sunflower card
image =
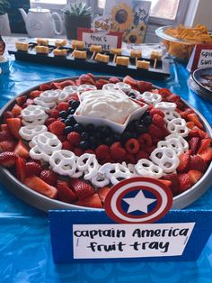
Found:
[[[120,3],[111,10],[112,31],[123,32],[129,28],[134,20],[134,14],[131,8],[125,4]]]

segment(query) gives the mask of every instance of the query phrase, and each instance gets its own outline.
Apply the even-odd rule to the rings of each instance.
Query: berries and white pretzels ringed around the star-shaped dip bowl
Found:
[[[88,207],[102,208],[112,185],[137,175],[160,179],[173,196],[192,187],[212,160],[211,138],[199,116],[166,88],[155,89],[129,76],[123,82],[86,74],[18,96],[2,116],[0,165],[42,195]],[[108,125],[76,122],[80,92],[117,84],[129,99],[147,103],[144,114],[121,133]],[[180,132],[174,133],[178,128]],[[162,170],[160,155],[169,151],[176,154]]]

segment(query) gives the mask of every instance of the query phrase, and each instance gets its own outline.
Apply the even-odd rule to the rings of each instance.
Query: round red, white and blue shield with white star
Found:
[[[104,206],[117,223],[154,223],[170,210],[172,191],[154,178],[128,178],[111,187]]]

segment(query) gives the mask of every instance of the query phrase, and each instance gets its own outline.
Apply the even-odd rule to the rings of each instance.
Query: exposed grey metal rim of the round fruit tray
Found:
[[[60,78],[57,80],[54,80],[56,82],[60,82],[66,79],[76,79],[78,77],[69,77],[69,78]],[[109,76],[96,76],[96,78],[110,78]],[[122,78],[120,78],[122,79]],[[46,82],[47,84],[50,83]],[[27,95],[31,90],[38,89],[40,85],[36,87],[31,87],[30,89],[25,90],[18,96]],[[155,88],[160,88],[156,87]],[[12,100],[10,100],[4,107],[0,110],[0,120],[2,118],[2,114],[4,114],[5,111],[8,109],[11,109],[11,107],[15,103],[15,98],[17,96],[13,97]],[[182,99],[183,100],[183,99]],[[193,109],[198,115],[201,120],[201,122],[204,124],[206,131],[208,132],[209,136],[212,137],[212,129],[210,125],[208,124],[207,120],[203,117],[202,114],[199,113],[196,109],[194,109],[190,104],[188,104],[186,101],[183,100],[183,102],[188,105],[191,109]],[[200,180],[190,189],[183,192],[179,196],[173,197],[173,203],[172,203],[172,209],[181,209],[184,208],[191,203],[193,203],[195,200],[197,200],[200,196],[202,196],[207,190],[208,187],[211,184],[211,174],[212,174],[212,162],[210,163],[207,171],[205,172],[204,176],[200,178]],[[2,184],[4,184],[5,187],[8,188],[15,196],[18,196],[22,199],[22,201],[28,203],[29,205],[35,206],[39,208],[40,210],[48,212],[50,209],[89,209],[89,210],[99,210],[97,208],[90,208],[85,206],[79,206],[79,205],[71,205],[66,204],[64,202],[58,201],[56,199],[51,199],[47,196],[43,196],[40,193],[37,193],[36,191],[32,190],[30,187],[26,187],[23,185],[17,178],[13,176],[13,174],[8,170],[0,167],[0,181]]]

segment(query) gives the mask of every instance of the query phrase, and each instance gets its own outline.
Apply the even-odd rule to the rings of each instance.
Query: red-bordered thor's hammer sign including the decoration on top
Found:
[[[92,44],[102,45],[102,50],[121,48],[122,32],[110,32],[110,17],[96,17],[93,20],[93,29],[78,28],[77,39],[84,41],[85,48]]]

